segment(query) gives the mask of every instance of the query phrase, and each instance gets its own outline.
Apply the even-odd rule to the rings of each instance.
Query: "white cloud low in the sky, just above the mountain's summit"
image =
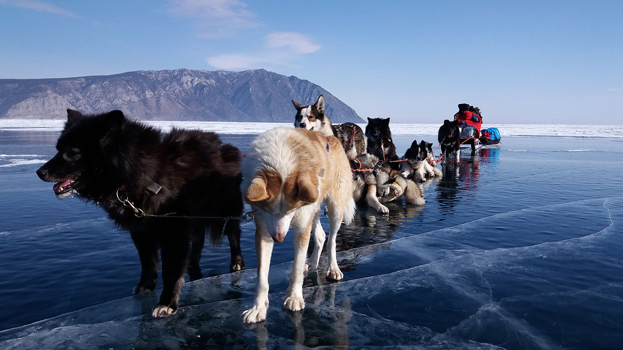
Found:
[[[288,65],[302,55],[320,50],[307,35],[295,32],[273,32],[265,37],[265,49],[249,54],[222,54],[207,58],[216,69],[257,69],[267,65]]]

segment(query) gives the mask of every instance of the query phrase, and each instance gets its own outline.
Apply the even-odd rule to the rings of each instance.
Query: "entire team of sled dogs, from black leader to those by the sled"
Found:
[[[326,277],[341,280],[336,235],[342,222],[350,224],[356,202],[383,213],[389,212],[383,203],[403,196],[424,205],[416,181],[439,177],[441,171],[426,141],[413,141],[402,158],[397,156],[389,118],[368,118],[364,132],[354,123],[331,124],[323,95],[313,105],[292,103],[295,128],[274,128],[255,138],[244,168],[240,151],[216,133],[177,128],[163,133],[128,120],[121,111],[82,115],[67,110],[58,153],[37,175],[56,182],[52,189],[59,199],[77,194],[130,232],[141,262],[134,294],[155,290],[162,263],[163,291],[154,317],[178,309],[184,275],[198,268],[206,232],[213,243],[229,240],[230,270],[245,268],[241,198],[254,209],[257,250],[255,301],[243,321],[266,318],[273,242],[283,242],[290,226],[295,257],[283,307],[302,310],[303,273],[318,268],[325,244],[321,204],[330,223]],[[445,121],[439,130],[444,161],[458,152],[455,126]],[[307,259],[310,237],[314,248]]]

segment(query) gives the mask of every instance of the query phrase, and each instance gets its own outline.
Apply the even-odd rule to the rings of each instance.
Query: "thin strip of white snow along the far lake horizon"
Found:
[[[51,130],[60,131],[64,120],[0,119],[0,130]],[[224,134],[259,134],[276,126],[292,126],[292,123],[239,123],[229,121],[144,121],[147,125],[168,130],[171,126],[216,131]],[[403,124],[392,123],[393,135],[437,135],[441,123]],[[359,124],[365,130],[365,124]],[[554,124],[496,124],[502,136],[562,136],[623,138],[623,125],[554,125]]]

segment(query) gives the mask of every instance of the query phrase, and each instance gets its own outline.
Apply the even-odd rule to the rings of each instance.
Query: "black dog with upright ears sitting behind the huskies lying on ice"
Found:
[[[368,118],[366,125],[368,139],[367,152],[384,161],[397,161],[396,146],[391,140],[389,118]],[[391,163],[393,169],[399,169],[398,162]]]

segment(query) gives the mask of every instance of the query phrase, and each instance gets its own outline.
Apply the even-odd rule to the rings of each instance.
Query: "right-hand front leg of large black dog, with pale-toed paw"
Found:
[[[179,234],[179,235],[178,235]],[[189,232],[176,232],[174,237],[166,237],[161,242],[162,283],[158,305],[151,314],[154,317],[173,315],[178,310],[179,293],[184,285],[184,275],[188,267]],[[181,237],[180,237],[181,236]]]

